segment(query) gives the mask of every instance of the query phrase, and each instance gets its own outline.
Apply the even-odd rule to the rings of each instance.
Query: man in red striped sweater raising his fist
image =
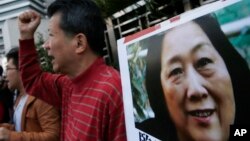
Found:
[[[19,68],[26,91],[61,109],[61,140],[125,141],[120,76],[102,58],[100,10],[92,0],[57,0],[48,15],[44,47],[60,74],[42,72],[33,39],[40,16],[24,12],[18,20]]]

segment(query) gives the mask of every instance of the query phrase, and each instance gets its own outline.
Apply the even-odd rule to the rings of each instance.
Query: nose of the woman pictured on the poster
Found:
[[[187,73],[187,97],[191,101],[199,101],[207,98],[208,91],[204,83],[205,79],[194,68]]]

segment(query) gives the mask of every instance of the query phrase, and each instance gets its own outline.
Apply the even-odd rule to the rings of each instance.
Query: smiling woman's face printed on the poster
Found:
[[[180,140],[227,140],[235,116],[231,79],[222,57],[196,23],[167,31],[161,84]]]

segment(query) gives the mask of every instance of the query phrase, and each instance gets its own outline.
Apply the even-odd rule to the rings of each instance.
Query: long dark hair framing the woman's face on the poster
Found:
[[[250,108],[248,108],[250,106],[250,71],[246,61],[229,42],[228,38],[222,32],[219,23],[212,15],[208,14],[194,19],[193,21],[198,24],[204,31],[204,33],[208,36],[213,46],[218,51],[226,64],[227,70],[231,77],[236,104],[234,124],[249,124],[250,115],[247,113],[250,113]],[[161,37],[161,40],[162,39],[163,36]],[[153,132],[152,135],[162,140],[176,140],[176,129],[172,120],[170,119],[169,112],[166,108],[167,104],[165,102],[160,81],[161,46],[161,44],[159,45],[159,43],[156,43],[154,44],[154,46],[151,46],[148,49],[146,87],[149,95],[150,105],[155,113],[154,124],[161,127],[167,127],[163,127],[166,130],[164,134],[156,134]],[[142,130],[150,128],[143,125],[140,125],[138,127],[142,127]],[[161,127],[159,127],[158,129],[162,130]],[[148,133],[151,134],[151,130],[148,131]]]

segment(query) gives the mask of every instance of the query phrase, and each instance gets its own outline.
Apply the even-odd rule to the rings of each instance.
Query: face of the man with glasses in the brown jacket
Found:
[[[6,65],[6,80],[10,90],[18,89],[21,83],[20,75],[17,67],[13,63],[13,59],[9,59]]]

